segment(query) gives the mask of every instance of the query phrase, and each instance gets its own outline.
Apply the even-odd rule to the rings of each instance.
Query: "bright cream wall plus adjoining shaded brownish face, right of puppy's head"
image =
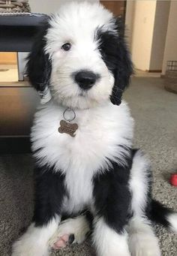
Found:
[[[127,1],[131,13],[126,16],[127,26],[131,29],[129,41],[133,63],[142,71],[161,71],[170,1],[137,0],[133,3]]]

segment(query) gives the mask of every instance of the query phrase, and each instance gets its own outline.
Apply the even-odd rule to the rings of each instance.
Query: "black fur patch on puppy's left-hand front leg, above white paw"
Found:
[[[61,206],[66,194],[65,176],[55,173],[53,168],[37,167],[35,170],[35,201],[33,221],[36,226],[47,224],[61,214]]]

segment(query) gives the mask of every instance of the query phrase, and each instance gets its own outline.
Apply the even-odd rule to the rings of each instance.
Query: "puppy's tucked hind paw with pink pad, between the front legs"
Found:
[[[76,218],[68,218],[58,226],[49,245],[52,248],[62,248],[71,243],[81,243],[86,239],[90,231],[89,220],[86,215],[80,215]]]

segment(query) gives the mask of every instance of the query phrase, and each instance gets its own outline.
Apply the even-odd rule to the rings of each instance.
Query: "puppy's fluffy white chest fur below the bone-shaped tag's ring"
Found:
[[[64,207],[74,212],[92,201],[93,176],[110,167],[110,161],[124,164],[124,147],[130,146],[133,120],[127,105],[111,103],[92,110],[76,110],[76,136],[60,134],[64,107],[53,103],[41,108],[31,130],[32,150],[39,164],[55,166],[65,173],[69,197]],[[74,123],[73,122],[73,123]]]

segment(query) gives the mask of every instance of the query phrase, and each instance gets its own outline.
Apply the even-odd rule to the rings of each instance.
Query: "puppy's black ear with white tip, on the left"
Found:
[[[49,23],[46,21],[43,23],[36,37],[34,38],[34,44],[31,48],[31,53],[28,55],[28,62],[26,65],[26,72],[29,81],[40,95],[41,103],[44,104],[51,99],[49,91],[49,80],[51,74],[51,61],[49,54],[45,53],[46,46],[46,32],[49,29]]]

